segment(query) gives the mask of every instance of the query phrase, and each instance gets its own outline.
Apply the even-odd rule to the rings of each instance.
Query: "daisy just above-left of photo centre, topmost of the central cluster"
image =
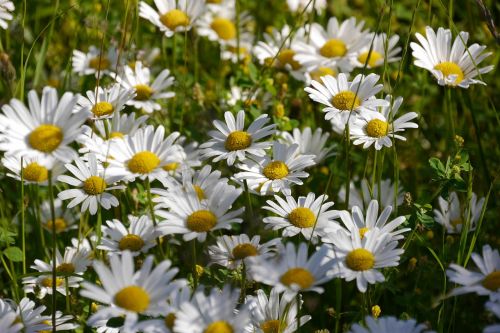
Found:
[[[238,112],[236,119],[229,111],[224,113],[226,123],[214,120],[216,131],[208,132],[212,137],[208,142],[202,144],[202,156],[214,158],[214,162],[227,160],[228,165],[233,165],[236,160],[244,161],[247,154],[251,157],[264,156],[265,149],[271,146],[268,141],[259,142],[275,132],[275,125],[265,126],[270,118],[263,114],[255,119],[248,129],[245,130],[245,111]]]

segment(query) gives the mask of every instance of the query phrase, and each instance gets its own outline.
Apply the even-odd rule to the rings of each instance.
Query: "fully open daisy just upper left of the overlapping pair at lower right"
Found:
[[[283,237],[292,237],[302,234],[306,240],[317,242],[318,235],[325,227],[330,225],[338,226],[334,219],[338,217],[338,212],[329,210],[333,202],[327,201],[327,195],[320,195],[316,198],[314,193],[309,193],[307,197],[299,197],[295,200],[287,195],[281,198],[277,195],[274,200],[267,200],[268,206],[262,207],[278,216],[265,217],[263,222],[268,229],[283,229]]]

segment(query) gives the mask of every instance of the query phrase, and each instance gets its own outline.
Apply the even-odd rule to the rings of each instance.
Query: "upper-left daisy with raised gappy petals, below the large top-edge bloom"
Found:
[[[167,91],[174,84],[174,77],[170,76],[170,71],[164,69],[151,83],[151,73],[149,68],[142,65],[142,62],[136,61],[135,67],[123,68],[123,76],[117,76],[116,81],[126,89],[134,89],[135,97],[126,104],[132,105],[136,109],[142,109],[146,113],[152,113],[155,110],[161,110],[158,100],[172,98],[175,93]]]

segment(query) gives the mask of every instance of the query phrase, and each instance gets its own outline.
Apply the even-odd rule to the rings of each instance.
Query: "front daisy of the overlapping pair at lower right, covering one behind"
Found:
[[[388,233],[378,228],[367,231],[363,238],[359,232],[349,233],[339,230],[330,238],[334,244],[335,261],[340,277],[346,281],[356,280],[358,290],[366,292],[368,283],[383,282],[384,275],[378,270],[385,267],[395,267],[399,264],[403,249],[396,248]]]

